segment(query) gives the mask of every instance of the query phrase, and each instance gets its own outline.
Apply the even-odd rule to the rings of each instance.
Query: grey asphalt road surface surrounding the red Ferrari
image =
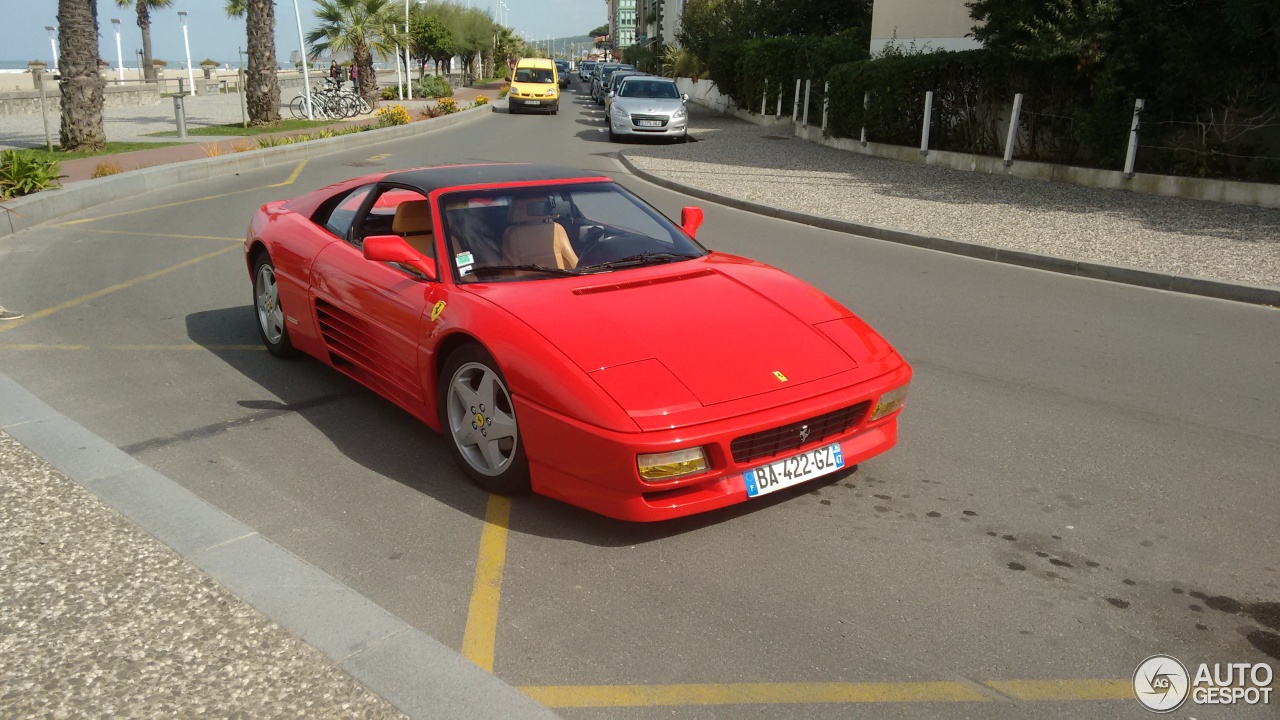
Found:
[[[61,306],[0,329],[0,365],[445,644],[492,625],[493,669],[512,684],[607,706],[567,717],[844,717],[829,701],[877,700],[891,702],[858,711],[1143,717],[1126,683],[1149,655],[1280,657],[1280,311],[717,206],[708,246],[813,282],[915,365],[900,447],[820,487],[660,525],[521,497],[509,532],[483,539],[502,509],[440,437],[317,363],[256,350],[234,241],[259,204],[365,168],[558,163],[613,174],[672,217],[690,204],[622,172],[594,105],[562,109],[0,241],[4,302]],[[477,559],[503,568],[497,606],[474,602]],[[1213,710],[1197,717],[1251,716]]]

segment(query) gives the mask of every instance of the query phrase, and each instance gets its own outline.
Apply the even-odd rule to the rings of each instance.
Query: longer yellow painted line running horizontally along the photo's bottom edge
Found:
[[[518,688],[547,707],[991,702],[963,683],[732,683],[700,685],[534,685]]]

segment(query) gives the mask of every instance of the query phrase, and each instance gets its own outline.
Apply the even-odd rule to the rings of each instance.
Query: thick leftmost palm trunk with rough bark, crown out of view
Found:
[[[58,81],[63,94],[63,150],[101,150],[106,81],[97,69],[97,0],[58,0]]]

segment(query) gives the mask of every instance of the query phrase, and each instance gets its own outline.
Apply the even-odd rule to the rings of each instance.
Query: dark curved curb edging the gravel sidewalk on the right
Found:
[[[694,197],[699,197],[709,202],[726,205],[728,208],[744,210],[748,213],[755,213],[758,215],[767,215],[769,218],[778,218],[782,220],[790,220],[792,223],[800,223],[815,228],[822,228],[835,232],[845,232],[850,234],[859,234],[863,237],[884,240],[888,242],[897,242],[901,245],[910,245],[914,247],[923,247],[927,250],[937,250],[940,252],[950,252],[952,255],[964,255],[966,258],[975,258],[978,260],[991,260],[993,263],[1020,265],[1023,268],[1034,268],[1037,270],[1048,270],[1051,273],[1062,273],[1066,275],[1078,275],[1083,278],[1093,278],[1093,279],[1108,281],[1124,284],[1134,284],[1155,290],[1167,290],[1171,292],[1181,292],[1185,295],[1201,295],[1204,297],[1216,297],[1219,300],[1231,300],[1235,302],[1248,302],[1252,305],[1270,305],[1280,307],[1280,290],[1277,288],[1230,283],[1225,281],[1197,278],[1192,275],[1175,275],[1170,273],[1160,273],[1156,270],[1129,268],[1125,265],[1108,265],[1106,263],[1093,263],[1089,260],[1073,260],[1070,258],[1059,258],[1056,255],[1041,255],[1038,252],[1028,252],[1025,250],[1007,250],[1004,247],[993,247],[991,245],[982,245],[978,242],[948,240],[945,237],[932,237],[908,231],[896,231],[892,228],[882,228],[879,225],[855,223],[851,220],[838,220],[836,218],[812,215],[809,213],[786,210],[782,208],[774,208],[773,205],[764,205],[762,202],[753,202],[750,200],[741,200],[728,195],[721,195],[718,192],[712,192],[709,190],[703,190],[700,187],[684,184],[657,176],[654,173],[639,168],[635,163],[632,163],[627,158],[627,151],[618,152],[618,159],[632,174],[648,182],[652,182],[657,186],[666,187],[667,190],[673,190],[676,192],[682,192],[685,195],[691,195]]]

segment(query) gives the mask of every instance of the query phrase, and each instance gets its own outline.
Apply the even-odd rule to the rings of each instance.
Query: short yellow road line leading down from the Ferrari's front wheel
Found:
[[[462,632],[462,656],[493,673],[493,648],[498,638],[498,601],[502,598],[502,569],[507,561],[507,525],[511,498],[490,495],[480,533],[476,579],[471,585],[467,626]]]

